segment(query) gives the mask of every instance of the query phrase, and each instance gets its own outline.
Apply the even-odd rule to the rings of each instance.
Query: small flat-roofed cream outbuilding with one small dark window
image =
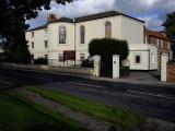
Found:
[[[148,44],[129,45],[130,70],[158,70],[158,48]]]

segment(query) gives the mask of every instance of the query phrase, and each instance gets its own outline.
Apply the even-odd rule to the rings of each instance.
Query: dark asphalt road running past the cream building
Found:
[[[83,96],[106,105],[175,122],[175,87],[96,81],[78,75],[0,68],[0,79]]]

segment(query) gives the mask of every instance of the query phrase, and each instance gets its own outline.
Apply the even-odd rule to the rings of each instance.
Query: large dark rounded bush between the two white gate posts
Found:
[[[93,39],[89,46],[89,52],[91,56],[101,56],[101,75],[112,76],[113,72],[113,55],[120,56],[121,61],[129,55],[128,43],[126,40],[118,39]]]

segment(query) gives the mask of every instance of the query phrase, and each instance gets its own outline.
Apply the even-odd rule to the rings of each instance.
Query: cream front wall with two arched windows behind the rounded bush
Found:
[[[89,56],[89,44],[94,38],[105,37],[105,23],[109,21],[112,23],[112,37],[121,38],[121,24],[120,16],[109,16],[98,20],[92,20],[86,22],[80,22],[75,24],[75,50],[77,58],[80,60],[80,53],[85,53]],[[85,44],[80,44],[80,27],[83,25],[85,27]]]

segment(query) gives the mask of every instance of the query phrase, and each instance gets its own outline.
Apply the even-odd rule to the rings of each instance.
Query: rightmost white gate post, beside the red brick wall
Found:
[[[161,55],[161,81],[166,81],[167,78],[167,61],[168,61],[168,56],[167,53],[162,53]]]

